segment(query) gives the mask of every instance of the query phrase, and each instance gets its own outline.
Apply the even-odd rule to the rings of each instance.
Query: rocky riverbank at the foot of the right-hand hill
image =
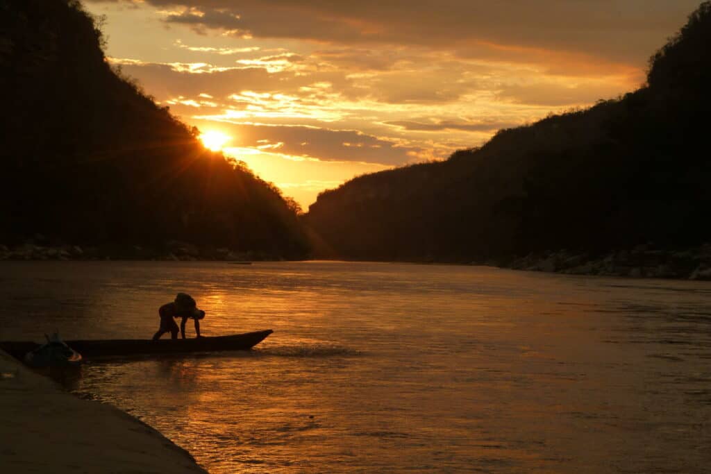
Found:
[[[639,246],[602,255],[560,250],[495,263],[510,269],[572,275],[711,280],[711,244],[677,250]]]

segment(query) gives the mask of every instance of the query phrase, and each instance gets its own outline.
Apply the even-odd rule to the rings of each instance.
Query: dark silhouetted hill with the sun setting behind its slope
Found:
[[[0,0],[0,243],[41,234],[304,256],[292,201],[204,149],[101,45],[78,1]]]

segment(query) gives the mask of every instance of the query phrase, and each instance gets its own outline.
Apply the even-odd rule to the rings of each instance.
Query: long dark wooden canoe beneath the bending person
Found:
[[[192,339],[108,339],[108,340],[65,340],[73,350],[85,359],[92,357],[130,357],[150,354],[184,354],[189,352],[218,352],[224,350],[249,350],[267,338],[271,329],[254,333],[221,335],[210,338]],[[0,342],[0,349],[22,359],[27,352],[40,345],[24,341]]]

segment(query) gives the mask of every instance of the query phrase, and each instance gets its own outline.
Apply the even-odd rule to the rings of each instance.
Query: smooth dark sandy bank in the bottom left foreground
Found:
[[[63,392],[0,350],[0,472],[205,473],[155,429]]]

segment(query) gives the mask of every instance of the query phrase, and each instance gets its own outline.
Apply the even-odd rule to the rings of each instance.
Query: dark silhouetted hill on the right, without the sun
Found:
[[[604,254],[711,237],[711,3],[619,99],[501,130],[447,161],[360,176],[319,195],[306,222],[321,254],[505,262]]]

